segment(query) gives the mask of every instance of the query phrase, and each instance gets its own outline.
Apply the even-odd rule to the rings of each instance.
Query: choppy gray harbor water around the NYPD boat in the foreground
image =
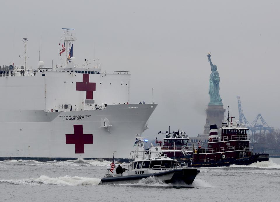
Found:
[[[155,177],[136,184],[97,185],[104,160],[0,162],[0,201],[280,201],[280,158],[252,165],[199,168],[192,185]]]

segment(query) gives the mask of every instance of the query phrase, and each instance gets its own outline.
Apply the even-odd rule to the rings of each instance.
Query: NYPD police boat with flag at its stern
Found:
[[[165,183],[192,184],[193,180],[200,172],[192,168],[191,162],[178,162],[167,157],[160,146],[152,146],[144,149],[144,138],[136,138],[136,151],[130,152],[128,168],[123,168],[127,174],[108,174],[101,178],[99,185],[114,185],[137,183],[143,178],[155,176]]]

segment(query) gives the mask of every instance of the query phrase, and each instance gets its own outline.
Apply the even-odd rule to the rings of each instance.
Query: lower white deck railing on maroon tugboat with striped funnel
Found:
[[[193,153],[220,153],[228,151],[253,151],[253,146],[226,146],[218,148],[208,148],[208,149],[193,149]]]

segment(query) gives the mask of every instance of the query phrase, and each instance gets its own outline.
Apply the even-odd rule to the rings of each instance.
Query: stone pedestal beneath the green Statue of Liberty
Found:
[[[210,125],[216,124],[217,127],[222,127],[222,121],[225,119],[225,109],[223,105],[208,105],[205,111],[207,117],[203,133],[209,135]]]

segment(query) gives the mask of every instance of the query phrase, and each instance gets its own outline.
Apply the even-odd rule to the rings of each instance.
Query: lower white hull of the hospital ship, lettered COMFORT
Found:
[[[135,135],[141,134],[156,104],[110,105],[104,110],[46,113],[43,110],[7,111],[9,122],[1,122],[0,158],[69,159],[128,158]],[[18,116],[15,118],[16,113]],[[101,127],[101,118],[112,126]],[[74,119],[74,120],[69,120]],[[78,119],[78,120],[77,120]],[[8,118],[9,120],[9,118]],[[74,134],[74,125],[82,125],[83,134],[92,134],[92,144],[66,144],[66,134]]]

